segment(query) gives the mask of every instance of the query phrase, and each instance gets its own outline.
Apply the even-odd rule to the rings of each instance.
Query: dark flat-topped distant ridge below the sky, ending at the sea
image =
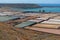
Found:
[[[0,4],[0,7],[39,8],[37,4]]]

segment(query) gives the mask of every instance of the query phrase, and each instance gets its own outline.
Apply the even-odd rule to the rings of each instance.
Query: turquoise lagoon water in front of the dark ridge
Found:
[[[43,8],[29,8],[29,9],[21,9],[21,8],[11,8],[13,10],[17,11],[36,11],[39,12],[39,10],[45,10],[45,12],[60,12],[60,7],[43,7]]]

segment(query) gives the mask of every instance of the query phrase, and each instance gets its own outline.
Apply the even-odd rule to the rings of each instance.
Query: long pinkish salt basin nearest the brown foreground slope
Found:
[[[36,27],[25,27],[25,29],[60,35],[60,29],[47,29],[47,28],[36,28]]]

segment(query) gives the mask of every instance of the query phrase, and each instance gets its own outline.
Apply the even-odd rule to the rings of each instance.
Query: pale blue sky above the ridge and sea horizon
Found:
[[[0,3],[48,3],[60,4],[60,0],[0,0]]]

